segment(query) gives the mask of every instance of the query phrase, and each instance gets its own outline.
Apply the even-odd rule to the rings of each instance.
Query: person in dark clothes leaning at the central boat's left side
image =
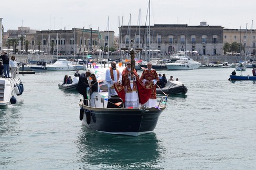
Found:
[[[87,71],[86,73],[82,73],[79,77],[78,85],[77,85],[77,91],[81,95],[83,95],[83,100],[87,99],[87,87],[90,87],[88,82],[88,77],[91,75],[91,72]],[[84,100],[84,104],[87,105],[87,100]]]

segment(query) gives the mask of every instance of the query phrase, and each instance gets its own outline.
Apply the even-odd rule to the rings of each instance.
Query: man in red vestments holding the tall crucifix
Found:
[[[136,70],[131,71],[131,62],[126,63],[126,67],[122,72],[122,85],[125,90],[125,107],[138,107],[138,90],[136,81],[138,81],[138,75]]]

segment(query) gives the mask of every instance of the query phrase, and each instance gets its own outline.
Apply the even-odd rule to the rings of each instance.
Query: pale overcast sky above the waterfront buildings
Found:
[[[0,18],[4,31],[18,27],[54,30],[86,28],[115,31],[119,25],[146,23],[148,0],[3,0]],[[207,21],[210,26],[251,29],[256,22],[255,0],[151,0],[150,24],[187,24],[197,26]],[[120,18],[120,19],[119,19]],[[119,24],[120,22],[120,24]],[[255,24],[253,24],[253,29]]]

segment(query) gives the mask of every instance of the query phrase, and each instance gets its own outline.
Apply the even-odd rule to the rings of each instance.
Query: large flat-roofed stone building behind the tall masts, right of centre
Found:
[[[206,22],[200,22],[199,26],[157,24],[150,28],[149,32],[148,26],[141,26],[141,31],[138,26],[120,27],[120,46],[127,48],[132,42],[134,48],[142,47],[145,51],[152,50],[162,54],[179,51],[197,51],[200,55],[223,54],[221,26],[209,26]]]

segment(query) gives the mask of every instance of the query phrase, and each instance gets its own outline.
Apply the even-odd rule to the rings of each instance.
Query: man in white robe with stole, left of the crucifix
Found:
[[[122,100],[119,99],[118,93],[116,92],[116,86],[120,87],[122,82],[122,74],[116,69],[116,62],[111,63],[110,69],[106,70],[105,81],[108,85],[109,99],[107,108],[121,108],[123,106]],[[122,86],[122,85],[121,85]],[[112,97],[112,98],[110,98]],[[114,98],[113,98],[114,97]],[[116,103],[122,103],[119,106]]]

